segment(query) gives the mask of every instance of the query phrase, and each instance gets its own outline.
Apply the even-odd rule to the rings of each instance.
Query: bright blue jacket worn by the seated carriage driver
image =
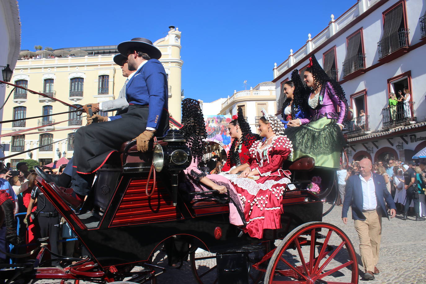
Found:
[[[150,106],[147,127],[157,129],[163,111],[167,111],[167,75],[157,59],[150,59],[129,80],[126,86],[126,99],[130,104]],[[109,117],[111,120],[121,115]]]

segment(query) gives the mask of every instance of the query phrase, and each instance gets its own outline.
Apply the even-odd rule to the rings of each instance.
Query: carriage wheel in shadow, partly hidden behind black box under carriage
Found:
[[[197,247],[191,248],[190,252],[190,265],[191,270],[194,275],[195,280],[199,284],[207,283],[218,283],[217,272],[216,272],[216,253],[211,252],[199,252],[195,253]],[[260,252],[262,254],[262,252]],[[252,252],[248,255],[248,265],[249,265],[249,283],[257,284],[261,283],[263,278],[262,271],[254,269],[251,265],[256,263],[256,259],[259,260],[262,255],[259,255],[257,252]]]

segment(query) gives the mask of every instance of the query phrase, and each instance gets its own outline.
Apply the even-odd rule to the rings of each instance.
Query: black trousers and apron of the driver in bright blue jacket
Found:
[[[89,194],[96,170],[109,155],[145,131],[148,112],[148,106],[130,105],[120,119],[92,123],[75,132],[72,189],[76,193]],[[168,129],[169,117],[164,110],[155,135],[163,136]]]

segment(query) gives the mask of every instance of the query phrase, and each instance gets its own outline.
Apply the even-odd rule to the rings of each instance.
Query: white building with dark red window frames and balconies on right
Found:
[[[426,146],[426,5],[424,0],[358,0],[273,69],[278,108],[291,72],[315,55],[342,85],[354,120],[348,123],[349,160],[408,160]],[[326,23],[325,23],[326,24]],[[389,92],[408,87],[396,114]],[[359,116],[363,109],[366,116]]]

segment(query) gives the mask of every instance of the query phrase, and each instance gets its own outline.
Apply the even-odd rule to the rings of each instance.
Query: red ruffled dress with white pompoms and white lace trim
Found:
[[[285,135],[276,135],[263,149],[262,141],[250,148],[254,158],[250,169],[260,173],[256,181],[250,178],[233,178],[231,182],[243,203],[247,226],[245,232],[253,238],[262,238],[264,229],[280,229],[282,195],[290,182],[289,171],[281,169],[283,161],[292,152],[291,141]]]

